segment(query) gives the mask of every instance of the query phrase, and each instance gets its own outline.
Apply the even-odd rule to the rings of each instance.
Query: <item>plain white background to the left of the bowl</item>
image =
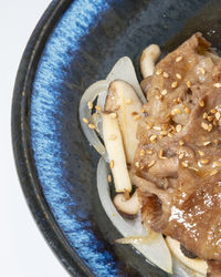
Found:
[[[0,276],[67,277],[24,201],[11,146],[11,99],[32,30],[50,0],[0,0]]]

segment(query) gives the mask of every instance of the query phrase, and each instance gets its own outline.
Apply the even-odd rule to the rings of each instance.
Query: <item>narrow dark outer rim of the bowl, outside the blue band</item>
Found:
[[[12,99],[11,135],[15,166],[28,206],[48,244],[73,276],[93,276],[90,267],[71,247],[46,204],[34,167],[30,137],[32,83],[44,45],[73,0],[54,0],[36,24],[22,55]]]

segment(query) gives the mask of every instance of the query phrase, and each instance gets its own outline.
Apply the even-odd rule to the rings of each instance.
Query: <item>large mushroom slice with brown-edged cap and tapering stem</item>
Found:
[[[141,117],[141,107],[143,104],[129,83],[115,80],[109,84],[105,112],[115,112],[117,114],[128,164],[134,162],[135,151],[138,145],[136,132],[138,121]]]

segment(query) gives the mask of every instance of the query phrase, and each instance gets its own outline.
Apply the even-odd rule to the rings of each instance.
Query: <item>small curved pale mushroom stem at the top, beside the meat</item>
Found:
[[[155,70],[155,63],[159,59],[159,55],[160,49],[157,44],[150,44],[143,51],[140,58],[140,71],[144,79],[152,75]]]

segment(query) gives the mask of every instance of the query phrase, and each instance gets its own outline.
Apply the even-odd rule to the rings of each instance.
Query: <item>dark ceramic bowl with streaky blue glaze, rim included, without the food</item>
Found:
[[[14,156],[28,204],[73,276],[167,276],[106,217],[96,191],[98,155],[78,122],[84,90],[123,55],[162,55],[197,31],[221,50],[221,1],[53,1],[27,47],[12,106]]]

